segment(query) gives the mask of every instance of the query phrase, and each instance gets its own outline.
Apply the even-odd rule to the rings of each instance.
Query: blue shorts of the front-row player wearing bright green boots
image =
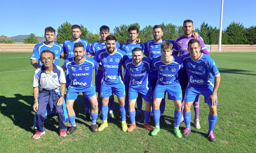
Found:
[[[168,99],[182,100],[182,91],[178,83],[173,85],[157,84],[154,90],[154,98],[164,98],[166,91],[168,93]]]

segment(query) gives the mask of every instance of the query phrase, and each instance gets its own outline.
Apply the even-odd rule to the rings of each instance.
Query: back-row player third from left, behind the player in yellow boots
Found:
[[[101,37],[101,40],[95,41],[92,43],[89,51],[86,54],[86,57],[92,57],[95,56],[95,54],[102,49],[106,49],[106,37],[110,34],[109,33],[109,27],[106,25],[103,25],[99,28],[99,35]],[[116,48],[120,48],[121,43],[116,41]],[[97,120],[102,118],[102,111],[101,111],[101,106],[102,106],[102,99],[100,97],[100,83],[101,83],[101,77],[103,75],[103,71],[99,69],[95,69],[95,88],[96,92],[98,93],[98,103],[99,103],[99,110],[100,113],[98,115]],[[114,109],[114,95],[111,95],[109,97],[109,114],[108,117],[109,119],[115,120],[116,117],[114,116],[113,109]]]

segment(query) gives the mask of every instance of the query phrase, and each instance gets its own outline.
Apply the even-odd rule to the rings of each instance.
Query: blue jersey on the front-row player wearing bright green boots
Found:
[[[151,66],[158,71],[157,84],[172,85],[179,83],[179,70],[183,68],[183,61],[180,57],[173,56],[171,63],[163,63],[162,56],[153,58]]]

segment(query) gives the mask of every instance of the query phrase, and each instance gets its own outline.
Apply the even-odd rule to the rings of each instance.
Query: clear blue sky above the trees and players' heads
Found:
[[[221,0],[0,0],[0,36],[42,36],[45,27],[57,30],[66,21],[83,24],[93,33],[101,25],[113,31],[115,26],[138,22],[142,29],[162,22],[182,25],[186,19],[193,20],[195,28],[203,21],[219,28],[220,15]],[[256,1],[224,0],[223,29],[233,21],[255,26]]]

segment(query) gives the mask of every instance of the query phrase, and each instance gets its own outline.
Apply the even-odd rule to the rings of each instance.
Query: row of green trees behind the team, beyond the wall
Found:
[[[183,36],[184,32],[182,30],[182,25],[177,26],[172,23],[165,24],[162,22],[160,25],[163,26],[163,37],[165,40],[176,40],[178,37]],[[65,40],[72,38],[71,34],[71,26],[69,22],[64,22],[57,29],[56,42],[62,44]],[[86,27],[82,24],[81,31],[82,35],[80,36],[83,39],[86,39],[89,43],[93,43],[94,41],[100,40],[99,34],[93,34],[88,31]],[[153,26],[147,25],[144,28],[140,28],[139,23],[133,24],[121,24],[113,29],[113,34],[116,39],[125,43],[126,39],[129,39],[128,28],[130,26],[136,26],[140,29],[139,37],[141,42],[147,42],[153,39],[152,31]],[[194,32],[197,32],[203,39],[205,44],[218,44],[219,40],[219,29],[217,27],[212,27],[207,23],[203,22],[199,28],[195,28]],[[39,43],[35,34],[30,34],[29,37],[24,39],[24,43],[36,44]],[[256,26],[251,26],[249,28],[245,28],[242,23],[235,23],[234,21],[229,24],[229,26],[222,31],[222,44],[256,44]]]

